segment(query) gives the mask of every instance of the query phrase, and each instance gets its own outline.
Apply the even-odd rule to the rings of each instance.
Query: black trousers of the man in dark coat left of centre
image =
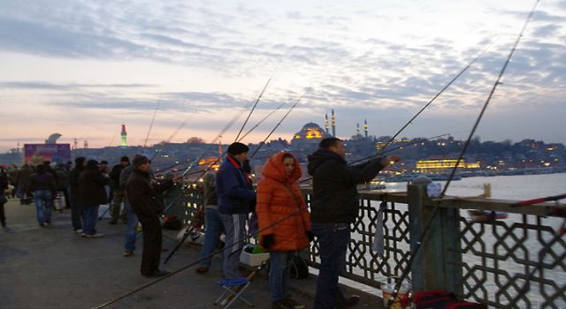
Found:
[[[161,260],[161,222],[155,217],[139,217],[142,222],[143,249],[142,249],[142,275],[151,275],[159,269]]]

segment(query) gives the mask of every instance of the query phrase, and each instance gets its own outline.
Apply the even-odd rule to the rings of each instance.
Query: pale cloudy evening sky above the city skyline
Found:
[[[210,141],[271,76],[251,124],[312,88],[275,137],[324,125],[331,109],[339,137],[366,118],[370,134],[393,135],[486,49],[401,134],[465,139],[534,3],[2,0],[0,151],[52,132],[118,145],[121,123],[141,145],[157,106],[148,144]],[[479,125],[482,140],[566,143],[565,21],[565,1],[539,3]],[[284,113],[244,141],[264,139]]]

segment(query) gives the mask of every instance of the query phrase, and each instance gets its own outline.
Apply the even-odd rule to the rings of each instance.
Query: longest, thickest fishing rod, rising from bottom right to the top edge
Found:
[[[507,59],[505,60],[505,64],[503,64],[503,67],[501,68],[501,72],[499,73],[497,79],[495,80],[495,82],[493,83],[493,87],[492,90],[490,91],[489,95],[487,96],[487,100],[486,103],[484,103],[484,107],[481,109],[481,112],[479,113],[478,119],[476,119],[476,123],[473,125],[470,135],[468,137],[468,139],[466,140],[466,143],[464,144],[464,147],[462,149],[462,152],[460,153],[460,156],[458,157],[458,160],[455,163],[454,168],[452,169],[452,172],[450,173],[450,176],[448,177],[447,183],[444,186],[444,189],[442,190],[442,192],[440,193],[440,199],[443,199],[448,186],[450,185],[452,179],[454,178],[455,175],[455,171],[458,168],[458,165],[460,164],[460,162],[462,162],[463,159],[463,155],[466,153],[466,150],[468,149],[468,147],[470,146],[470,140],[473,137],[473,134],[476,132],[476,129],[478,129],[478,124],[479,121],[481,120],[481,118],[484,116],[484,113],[486,112],[487,106],[489,105],[489,102],[491,102],[491,99],[493,97],[493,93],[495,92],[495,89],[497,88],[498,85],[500,85],[500,80],[501,77],[503,76],[503,73],[505,72],[505,70],[507,69],[507,66],[509,64],[509,61],[511,60],[511,57],[513,56],[513,54],[515,53],[516,47],[519,44],[519,41],[521,41],[521,38],[523,37],[524,34],[524,30],[526,29],[527,25],[529,24],[529,21],[532,18],[532,15],[534,14],[534,11],[537,8],[537,5],[539,4],[539,0],[536,1],[536,3],[534,4],[534,7],[532,8],[531,13],[529,13],[529,17],[527,18],[527,20],[524,22],[524,26],[523,29],[521,30],[520,34],[517,36],[515,43],[513,44],[513,48],[511,49],[511,51],[509,52],[509,56],[507,57]],[[415,243],[415,248],[414,250],[410,253],[410,257],[409,257],[409,261],[408,261],[408,265],[407,268],[405,268],[402,272],[401,277],[399,278],[399,280],[397,281],[397,283],[395,283],[395,287],[394,287],[394,291],[393,294],[391,296],[391,298],[389,298],[387,300],[387,304],[386,304],[386,309],[391,308],[391,305],[394,304],[394,299],[397,298],[397,295],[399,294],[399,290],[401,288],[401,284],[403,282],[403,280],[405,280],[405,278],[407,277],[407,275],[409,275],[409,270],[415,260],[415,257],[417,255],[417,252],[419,251],[419,249],[421,248],[421,245],[424,241],[424,237],[427,236],[428,231],[431,230],[431,226],[432,226],[432,221],[434,220],[434,217],[436,216],[436,214],[438,213],[439,210],[439,206],[436,205],[434,206],[434,208],[432,209],[432,214],[430,219],[428,220],[428,222],[426,223],[424,230],[423,230],[423,234],[421,235],[421,237],[418,239],[418,241]]]

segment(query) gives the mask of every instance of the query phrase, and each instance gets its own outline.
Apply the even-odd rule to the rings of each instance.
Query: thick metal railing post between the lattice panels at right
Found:
[[[418,177],[407,187],[409,196],[409,236],[411,251],[431,219],[433,207],[426,186],[428,177]],[[458,209],[440,207],[411,267],[413,290],[448,290],[462,294],[462,255]]]

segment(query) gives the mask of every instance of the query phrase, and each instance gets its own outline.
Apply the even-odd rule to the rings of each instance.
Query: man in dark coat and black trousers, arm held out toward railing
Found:
[[[143,249],[140,272],[148,278],[164,276],[169,274],[159,269],[162,242],[159,215],[164,204],[157,192],[164,192],[173,184],[180,183],[182,178],[175,177],[158,184],[149,175],[151,163],[147,157],[135,155],[132,162],[134,170],[127,180],[126,194],[134,214],[142,222]]]

